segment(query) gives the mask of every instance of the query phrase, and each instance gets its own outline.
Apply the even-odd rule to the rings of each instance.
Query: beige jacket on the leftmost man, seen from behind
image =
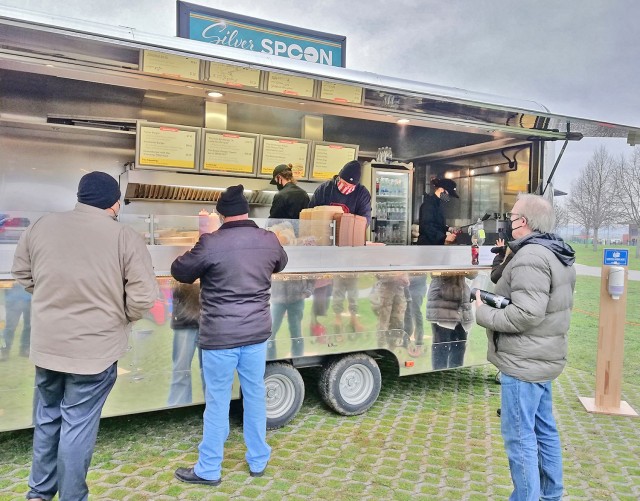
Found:
[[[11,273],[33,294],[31,361],[59,372],[107,369],[127,349],[129,324],[158,297],[140,235],[81,203],[32,224]]]

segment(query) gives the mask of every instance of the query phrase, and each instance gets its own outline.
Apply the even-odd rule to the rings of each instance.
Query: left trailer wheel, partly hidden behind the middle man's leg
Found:
[[[302,407],[304,381],[298,370],[289,364],[267,364],[264,373],[267,394],[267,429],[281,428],[291,421]]]

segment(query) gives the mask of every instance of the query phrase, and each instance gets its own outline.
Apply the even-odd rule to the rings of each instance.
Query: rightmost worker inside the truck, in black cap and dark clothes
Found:
[[[434,178],[431,184],[435,191],[432,195],[425,195],[420,205],[418,245],[444,245],[445,240],[452,243],[456,235],[447,226],[442,203],[448,202],[450,197],[460,198],[456,183],[451,179]]]

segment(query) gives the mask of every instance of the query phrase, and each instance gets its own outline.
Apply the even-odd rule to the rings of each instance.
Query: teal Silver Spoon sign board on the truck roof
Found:
[[[178,2],[178,36],[215,45],[345,65],[346,37]]]

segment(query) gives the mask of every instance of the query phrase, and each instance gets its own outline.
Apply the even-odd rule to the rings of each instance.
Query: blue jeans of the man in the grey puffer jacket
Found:
[[[551,381],[528,383],[503,373],[500,385],[502,438],[514,486],[509,499],[562,499],[562,448]]]

